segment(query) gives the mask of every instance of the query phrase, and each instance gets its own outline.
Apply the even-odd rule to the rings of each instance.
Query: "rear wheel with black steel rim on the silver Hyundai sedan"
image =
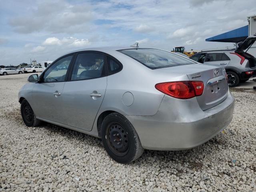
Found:
[[[101,137],[109,156],[119,163],[130,163],[138,159],[144,151],[132,124],[123,115],[116,112],[104,118]]]

